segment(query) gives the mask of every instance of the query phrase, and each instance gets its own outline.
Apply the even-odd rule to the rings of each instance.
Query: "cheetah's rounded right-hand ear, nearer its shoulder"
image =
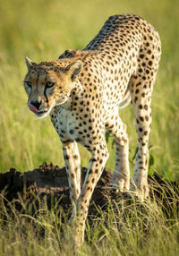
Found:
[[[83,63],[81,62],[81,60],[77,60],[72,64],[69,64],[64,69],[64,71],[72,79],[72,81],[74,81],[78,77],[79,73],[81,73],[82,67],[83,67]]]

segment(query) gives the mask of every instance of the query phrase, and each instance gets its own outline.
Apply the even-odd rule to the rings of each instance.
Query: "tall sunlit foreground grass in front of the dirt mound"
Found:
[[[7,210],[0,198],[0,255],[76,255],[59,201],[52,209],[41,203],[33,215],[26,201],[19,201],[23,213],[13,204]],[[159,202],[108,201],[107,210],[98,209],[87,222],[79,255],[178,255],[178,213],[166,217]]]

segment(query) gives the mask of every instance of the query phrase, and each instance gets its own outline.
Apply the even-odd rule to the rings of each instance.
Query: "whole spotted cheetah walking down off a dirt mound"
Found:
[[[50,115],[62,141],[76,244],[84,240],[91,195],[109,156],[106,131],[115,137],[111,184],[120,192],[130,190],[129,142],[118,115],[130,102],[139,142],[131,190],[141,200],[149,196],[150,104],[160,54],[157,30],[137,15],[123,14],[111,16],[83,50],[66,50],[57,60],[40,64],[26,58],[28,107],[40,118]],[[82,186],[77,143],[91,154]]]

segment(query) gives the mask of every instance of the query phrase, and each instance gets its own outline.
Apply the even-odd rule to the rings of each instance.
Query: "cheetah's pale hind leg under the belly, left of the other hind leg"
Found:
[[[115,170],[111,184],[120,192],[126,192],[130,186],[129,142],[125,131],[126,125],[123,124],[118,113],[116,113],[116,115],[109,118],[106,128],[108,132],[115,136]]]

